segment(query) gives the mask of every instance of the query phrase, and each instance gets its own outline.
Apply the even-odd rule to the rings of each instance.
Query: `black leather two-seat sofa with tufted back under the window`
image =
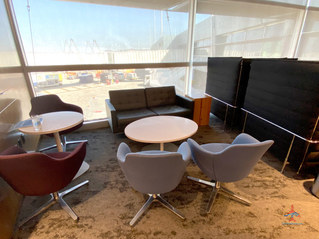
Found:
[[[158,115],[193,119],[194,101],[176,94],[174,86],[109,91],[105,100],[113,134],[124,132],[135,120]]]

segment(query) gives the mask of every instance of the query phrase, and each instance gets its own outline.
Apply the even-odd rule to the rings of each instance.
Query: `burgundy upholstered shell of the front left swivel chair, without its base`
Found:
[[[73,152],[50,153],[50,156],[26,153],[13,146],[0,155],[0,176],[22,195],[46,195],[63,189],[72,181],[85,153],[85,142]]]

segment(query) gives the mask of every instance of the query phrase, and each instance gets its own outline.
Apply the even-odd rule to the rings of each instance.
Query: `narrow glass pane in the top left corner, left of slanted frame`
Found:
[[[0,67],[20,66],[4,2],[0,3]]]

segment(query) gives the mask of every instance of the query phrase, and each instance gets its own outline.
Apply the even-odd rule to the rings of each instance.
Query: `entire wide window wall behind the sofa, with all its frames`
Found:
[[[204,92],[207,57],[319,60],[316,0],[5,1],[36,95],[81,105],[85,120],[106,117],[112,89]]]

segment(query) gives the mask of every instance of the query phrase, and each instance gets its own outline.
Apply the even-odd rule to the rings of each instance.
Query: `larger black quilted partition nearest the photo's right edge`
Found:
[[[248,114],[245,132],[274,140],[273,152],[285,157],[296,134],[288,162],[318,161],[316,144],[308,148],[308,141],[318,140],[319,62],[252,59],[243,109],[264,119]]]

